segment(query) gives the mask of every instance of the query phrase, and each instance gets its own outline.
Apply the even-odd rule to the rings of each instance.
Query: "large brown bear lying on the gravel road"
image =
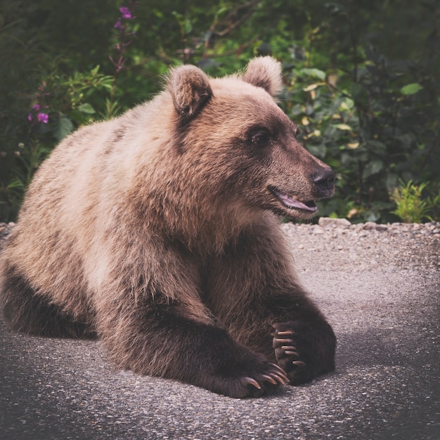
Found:
[[[273,96],[280,63],[191,65],[152,101],[82,127],[41,165],[1,256],[12,329],[98,336],[118,368],[233,397],[335,368],[276,214],[309,219],[330,167]]]

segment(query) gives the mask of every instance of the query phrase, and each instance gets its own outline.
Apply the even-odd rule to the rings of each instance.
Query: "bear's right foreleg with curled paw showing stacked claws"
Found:
[[[243,232],[209,263],[206,284],[209,309],[231,335],[276,361],[291,384],[335,369],[335,334],[297,282],[276,224]]]

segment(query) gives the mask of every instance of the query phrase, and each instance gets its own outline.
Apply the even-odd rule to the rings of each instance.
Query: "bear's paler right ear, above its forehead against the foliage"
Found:
[[[247,65],[243,81],[252,86],[262,87],[271,96],[276,96],[283,87],[281,63],[271,56],[254,58]]]

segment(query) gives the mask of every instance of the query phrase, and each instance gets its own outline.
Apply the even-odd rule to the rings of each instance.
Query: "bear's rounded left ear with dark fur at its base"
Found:
[[[195,115],[212,97],[209,78],[193,65],[183,65],[172,70],[168,77],[168,89],[174,108],[181,118]]]

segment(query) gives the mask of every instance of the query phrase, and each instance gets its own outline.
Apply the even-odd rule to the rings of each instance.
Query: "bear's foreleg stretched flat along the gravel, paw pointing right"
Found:
[[[237,398],[289,382],[278,365],[235,342],[226,329],[187,318],[189,313],[186,304],[164,301],[157,293],[130,308],[122,299],[98,311],[98,332],[119,368],[134,373]]]

